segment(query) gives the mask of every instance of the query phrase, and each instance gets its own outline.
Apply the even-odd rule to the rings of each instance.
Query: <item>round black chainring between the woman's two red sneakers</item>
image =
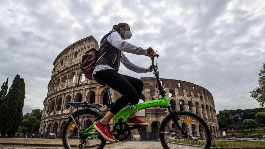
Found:
[[[114,138],[120,141],[126,140],[131,135],[130,126],[124,122],[116,123],[112,130],[114,132],[112,133]]]

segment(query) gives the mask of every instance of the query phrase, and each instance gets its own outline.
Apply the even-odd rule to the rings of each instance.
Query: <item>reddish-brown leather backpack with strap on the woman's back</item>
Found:
[[[110,47],[111,48],[111,47]],[[109,49],[110,49],[109,48]],[[108,49],[108,50],[109,50]],[[107,50],[107,51],[108,51]],[[107,53],[107,51],[105,53]],[[105,54],[104,53],[104,54]],[[104,55],[102,54],[98,60]],[[88,51],[86,51],[86,53],[82,56],[81,59],[81,64],[79,64],[79,68],[80,68],[80,74],[78,77],[78,83],[76,87],[79,87],[79,81],[80,81],[80,77],[81,74],[83,73],[85,75],[85,77],[89,80],[93,80],[92,79],[92,73],[95,67],[95,64],[98,62],[98,60],[96,61],[98,56],[98,50],[96,50],[95,48],[91,48]]]

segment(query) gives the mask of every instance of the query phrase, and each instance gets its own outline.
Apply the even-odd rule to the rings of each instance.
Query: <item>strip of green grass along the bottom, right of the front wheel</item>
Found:
[[[260,147],[265,148],[265,142],[222,142],[215,141],[216,147]]]

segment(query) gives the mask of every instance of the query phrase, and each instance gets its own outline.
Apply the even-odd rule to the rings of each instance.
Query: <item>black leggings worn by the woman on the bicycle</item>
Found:
[[[131,105],[138,104],[144,86],[142,80],[121,75],[113,69],[97,71],[93,76],[99,83],[100,81],[104,82],[104,84],[107,84],[122,95],[111,107],[111,113],[118,113],[129,103],[131,103]]]

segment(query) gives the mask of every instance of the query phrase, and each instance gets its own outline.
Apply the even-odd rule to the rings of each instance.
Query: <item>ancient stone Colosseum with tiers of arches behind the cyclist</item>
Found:
[[[39,137],[46,137],[49,132],[57,134],[61,138],[64,125],[70,113],[76,108],[67,105],[67,102],[84,102],[108,104],[109,98],[105,92],[105,86],[82,76],[77,88],[77,80],[82,55],[90,48],[99,49],[98,42],[93,36],[81,39],[65,48],[55,59],[51,72],[51,80],[48,83],[47,97],[43,101],[44,108],[40,122]],[[159,99],[155,79],[143,77],[144,89],[139,102]],[[220,136],[214,100],[212,94],[205,88],[181,80],[162,79],[166,89],[166,95],[170,103],[178,103],[177,110],[187,110],[201,116],[208,124],[212,135]],[[111,89],[113,100],[120,97],[120,93]],[[104,110],[107,112],[108,110]],[[158,127],[167,115],[167,108],[153,107],[136,113],[142,120],[149,123],[144,129],[134,129],[131,133],[142,139],[156,137]],[[92,122],[91,122],[92,123]],[[114,123],[112,120],[111,123]],[[41,135],[42,134],[42,135]]]

